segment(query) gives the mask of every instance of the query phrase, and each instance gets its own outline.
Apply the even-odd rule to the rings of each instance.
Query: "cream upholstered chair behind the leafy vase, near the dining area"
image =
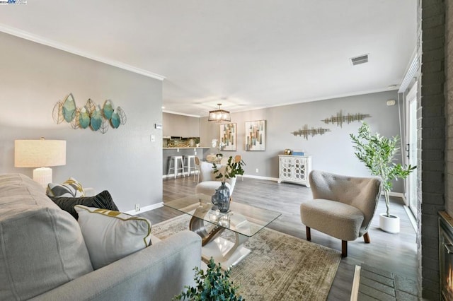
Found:
[[[224,174],[226,165],[218,164],[220,172]],[[202,162],[200,164],[200,176],[201,182],[195,187],[196,194],[206,194],[211,196],[215,193],[215,190],[220,187],[220,179],[216,179],[217,175],[214,175],[214,170],[212,169],[212,163]],[[225,185],[229,188],[229,195],[233,194],[234,185],[236,184],[236,178],[225,179]]]

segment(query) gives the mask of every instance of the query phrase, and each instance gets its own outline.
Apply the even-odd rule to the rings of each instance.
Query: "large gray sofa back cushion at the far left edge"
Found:
[[[93,271],[79,224],[24,175],[0,175],[1,300],[27,300]]]

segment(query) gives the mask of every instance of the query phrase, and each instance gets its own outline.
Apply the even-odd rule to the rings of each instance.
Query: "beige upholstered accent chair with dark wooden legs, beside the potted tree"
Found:
[[[368,228],[381,194],[381,179],[313,170],[309,181],[313,199],[300,206],[306,240],[311,240],[311,228],[336,237],[342,242],[343,257],[348,256],[348,241],[363,236],[369,243]]]

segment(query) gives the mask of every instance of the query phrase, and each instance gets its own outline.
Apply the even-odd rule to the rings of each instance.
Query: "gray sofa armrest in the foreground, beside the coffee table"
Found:
[[[200,263],[201,238],[185,230],[32,300],[171,300]]]

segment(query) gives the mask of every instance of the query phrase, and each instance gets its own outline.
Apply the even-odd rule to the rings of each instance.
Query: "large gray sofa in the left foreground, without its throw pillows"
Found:
[[[32,179],[0,175],[0,300],[171,300],[200,259],[183,231],[93,271],[79,223]]]

